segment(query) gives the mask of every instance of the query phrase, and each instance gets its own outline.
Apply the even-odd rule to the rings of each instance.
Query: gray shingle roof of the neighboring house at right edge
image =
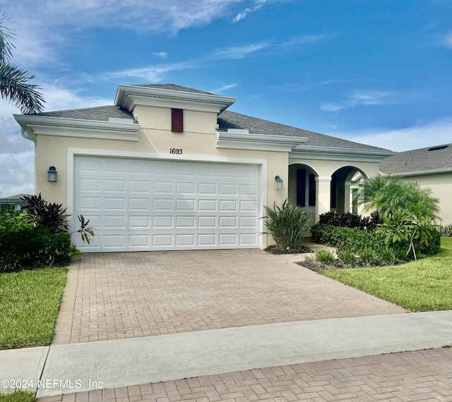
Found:
[[[398,175],[452,171],[452,144],[400,152],[384,159],[380,171]]]

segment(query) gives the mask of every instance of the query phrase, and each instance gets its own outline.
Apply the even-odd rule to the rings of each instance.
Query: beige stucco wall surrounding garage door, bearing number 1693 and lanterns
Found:
[[[61,203],[72,212],[73,200],[68,197],[71,181],[67,175],[73,160],[68,150],[85,150],[90,154],[109,151],[110,156],[124,156],[124,152],[136,152],[138,157],[158,157],[172,160],[208,160],[237,163],[237,160],[256,160],[262,164],[266,176],[265,205],[280,205],[287,198],[287,152],[268,152],[263,150],[237,150],[216,147],[217,115],[211,112],[184,111],[184,133],[171,132],[170,109],[136,107],[135,116],[141,125],[138,141],[102,140],[93,138],[73,138],[64,136],[38,135],[36,142],[35,181],[36,192],[49,202]],[[182,149],[183,154],[171,154],[170,148]],[[133,154],[128,154],[133,157]],[[57,183],[47,182],[47,170],[55,166],[58,171]],[[275,176],[284,180],[283,189],[275,190]],[[73,183],[72,183],[73,184]],[[270,242],[270,240],[269,240]],[[270,244],[270,243],[269,243]]]

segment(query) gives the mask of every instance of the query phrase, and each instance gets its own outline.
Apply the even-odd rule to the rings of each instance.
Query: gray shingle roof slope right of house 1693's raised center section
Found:
[[[308,137],[309,140],[303,145],[311,147],[333,147],[343,148],[349,150],[384,150],[379,147],[372,147],[371,145],[359,144],[340,138],[331,137],[314,133],[313,131],[302,130],[291,126],[285,126],[280,123],[273,123],[273,121],[263,120],[261,118],[245,116],[244,114],[235,113],[233,111],[223,111],[218,115],[218,125],[220,131],[227,131],[228,128],[239,128],[242,130],[249,130],[251,134],[266,134],[266,135],[289,135],[293,137]]]

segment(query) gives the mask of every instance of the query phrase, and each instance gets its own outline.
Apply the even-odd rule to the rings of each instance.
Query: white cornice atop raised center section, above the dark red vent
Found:
[[[116,106],[133,111],[136,106],[157,106],[220,113],[237,98],[162,88],[119,85],[114,98]]]

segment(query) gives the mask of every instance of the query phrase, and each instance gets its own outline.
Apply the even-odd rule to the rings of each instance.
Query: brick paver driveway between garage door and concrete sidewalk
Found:
[[[93,253],[71,264],[54,343],[400,312],[263,250]]]

